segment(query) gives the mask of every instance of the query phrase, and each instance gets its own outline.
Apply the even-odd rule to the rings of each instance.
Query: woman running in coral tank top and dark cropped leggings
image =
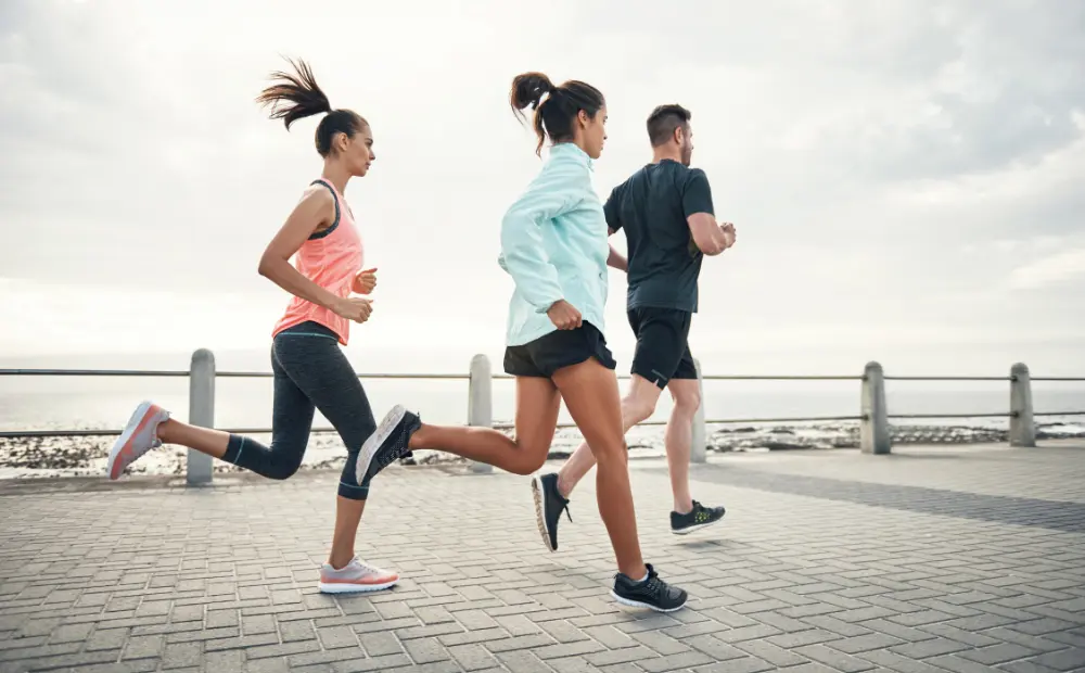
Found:
[[[355,478],[358,452],[376,423],[358,376],[343,354],[350,322],[365,322],[375,269],[362,270],[361,239],[343,199],[353,177],[365,177],[373,154],[369,124],[349,110],[333,110],[304,62],[294,73],[275,73],[276,82],[257,101],[272,109],[271,118],[286,129],[303,117],[322,114],[317,152],[324,160],[319,179],[305,190],[286,223],[260,259],[260,275],[293,294],[272,331],[275,376],[271,445],[218,430],[174,420],[151,402],[139,405],[113,450],[107,472],[118,479],[149,450],[166,444],[188,446],[270,479],[288,479],[302,465],[314,411],[335,427],[348,457],[339,483],[335,533],[328,562],[320,569],[320,591],[370,592],[399,581],[394,572],[369,566],[355,556],[355,536],[369,495],[369,480]],[[296,266],[290,258],[296,258]]]

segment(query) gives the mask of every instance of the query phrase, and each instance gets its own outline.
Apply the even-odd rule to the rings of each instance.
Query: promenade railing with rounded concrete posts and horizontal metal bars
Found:
[[[869,363],[861,374],[704,374],[701,364],[695,361],[698,384],[704,399],[704,381],[860,381],[860,411],[854,416],[805,416],[774,418],[720,418],[706,419],[704,404],[693,418],[693,446],[691,460],[704,462],[706,459],[706,426],[727,423],[810,423],[832,421],[858,421],[859,447],[863,453],[889,454],[891,450],[890,419],[948,419],[948,418],[1009,418],[1009,441],[1011,446],[1035,446],[1036,428],[1034,419],[1043,416],[1085,416],[1082,411],[1042,411],[1033,409],[1032,381],[1085,382],[1085,377],[1031,377],[1023,364],[1013,365],[1006,377],[974,376],[885,376],[878,363]],[[189,379],[189,422],[204,428],[215,428],[215,381],[217,379],[266,379],[267,371],[217,371],[215,356],[210,351],[200,350],[192,354],[188,370],[136,370],[136,369],[0,369],[3,377],[133,377],[133,378],[188,378]],[[399,380],[457,380],[468,381],[468,426],[512,429],[512,423],[495,423],[493,418],[493,382],[510,380],[514,377],[493,373],[489,358],[476,355],[471,359],[467,373],[360,373],[359,379]],[[628,379],[628,376],[620,376]],[[885,381],[1005,381],[1010,384],[1010,409],[1006,412],[980,414],[890,414],[885,398]],[[666,421],[649,420],[641,426],[664,426]],[[561,422],[559,428],[574,428],[575,423]],[[270,428],[221,428],[237,434],[266,434]],[[333,432],[333,428],[314,428],[314,432]],[[116,436],[119,430],[15,430],[0,431],[0,439],[29,437],[73,437],[73,436]],[[489,466],[473,464],[480,472],[489,471]],[[189,449],[187,482],[192,485],[212,481],[212,458]]]

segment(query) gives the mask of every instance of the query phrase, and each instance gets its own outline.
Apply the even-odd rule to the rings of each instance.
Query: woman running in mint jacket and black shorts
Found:
[[[358,481],[420,448],[531,474],[546,462],[564,399],[597,461],[599,512],[620,571],[611,595],[629,606],[677,610],[686,592],[661,580],[640,554],[615,363],[603,338],[607,266],[625,268],[608,242],[591,187],[592,161],[607,140],[607,103],[591,85],[571,80],[559,87],[541,73],[513,79],[510,99],[521,115],[528,105],[535,111],[536,154],[546,139],[551,142],[538,177],[501,223],[499,263],[515,282],[505,370],[516,379],[516,439],[488,428],[424,424],[397,406],[362,447]],[[544,497],[537,482],[532,485],[539,519],[560,515],[561,496]],[[545,526],[540,532],[556,550]]]

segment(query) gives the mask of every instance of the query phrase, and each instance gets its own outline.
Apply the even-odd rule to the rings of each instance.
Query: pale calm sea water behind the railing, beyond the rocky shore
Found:
[[[380,418],[390,406],[403,403],[419,409],[426,421],[467,422],[465,380],[365,380],[366,391]],[[133,406],[152,398],[178,419],[188,415],[188,380],[100,379],[71,377],[0,378],[0,430],[117,428]],[[621,382],[623,389],[625,381]],[[1009,383],[886,384],[890,414],[1005,414],[1009,411]],[[270,379],[219,379],[216,417],[222,428],[260,428],[271,422]],[[1034,383],[1036,412],[1085,411],[1085,388],[1080,383]],[[513,418],[514,383],[494,381],[494,419]],[[857,416],[858,381],[705,381],[705,417],[709,420]],[[653,420],[666,420],[671,398],[664,392]],[[562,409],[562,421],[571,421]],[[1042,417],[1041,420],[1051,420]],[[1067,420],[1067,419],[1062,419]],[[1085,420],[1085,419],[1078,419]],[[946,424],[945,420],[916,423]],[[326,426],[323,418],[316,421]],[[1005,419],[954,419],[957,423],[1005,427]]]

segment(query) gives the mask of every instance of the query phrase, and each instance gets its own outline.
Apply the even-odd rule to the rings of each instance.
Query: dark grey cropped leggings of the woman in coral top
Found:
[[[358,485],[354,467],[362,443],[376,431],[376,421],[335,333],[316,322],[303,322],[279,332],[271,345],[271,370],[275,373],[271,446],[230,435],[222,459],[269,479],[289,479],[302,465],[314,410],[320,409],[346,445],[347,461],[340,477],[339,494],[365,500],[369,483]]]

